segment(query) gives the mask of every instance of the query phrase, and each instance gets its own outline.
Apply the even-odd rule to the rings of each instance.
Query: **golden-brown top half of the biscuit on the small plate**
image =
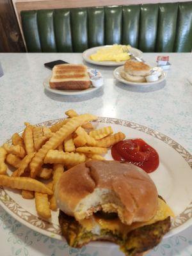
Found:
[[[124,70],[131,76],[148,76],[151,67],[143,62],[128,60],[125,62]]]

